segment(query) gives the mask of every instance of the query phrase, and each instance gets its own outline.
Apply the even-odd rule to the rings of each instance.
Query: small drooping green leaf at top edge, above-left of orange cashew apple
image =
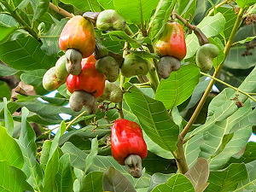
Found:
[[[49,7],[49,0],[30,0],[34,10],[33,20],[38,20]]]

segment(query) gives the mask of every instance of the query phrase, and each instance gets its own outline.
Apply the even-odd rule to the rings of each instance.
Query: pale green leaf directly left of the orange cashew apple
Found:
[[[56,23],[49,28],[49,31],[43,33],[40,37],[43,43],[41,49],[43,49],[47,55],[56,56],[61,51],[58,42],[59,37],[61,35],[61,31],[63,27],[66,25],[66,23],[67,19],[56,21]]]

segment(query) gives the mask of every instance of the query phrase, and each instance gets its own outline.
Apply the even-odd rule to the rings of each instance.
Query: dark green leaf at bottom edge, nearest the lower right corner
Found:
[[[238,182],[247,178],[247,169],[244,164],[231,164],[228,168],[210,172],[208,187],[205,192],[210,191],[234,191]]]

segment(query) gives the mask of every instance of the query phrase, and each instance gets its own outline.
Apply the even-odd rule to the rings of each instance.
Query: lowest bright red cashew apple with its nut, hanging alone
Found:
[[[120,165],[128,167],[133,177],[142,175],[142,159],[147,157],[147,145],[140,126],[127,119],[115,120],[111,129],[111,151]]]

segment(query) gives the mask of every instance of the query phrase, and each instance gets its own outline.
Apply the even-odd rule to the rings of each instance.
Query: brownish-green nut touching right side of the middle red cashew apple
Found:
[[[96,70],[103,73],[109,82],[119,78],[119,63],[112,56],[105,56],[96,61]]]

